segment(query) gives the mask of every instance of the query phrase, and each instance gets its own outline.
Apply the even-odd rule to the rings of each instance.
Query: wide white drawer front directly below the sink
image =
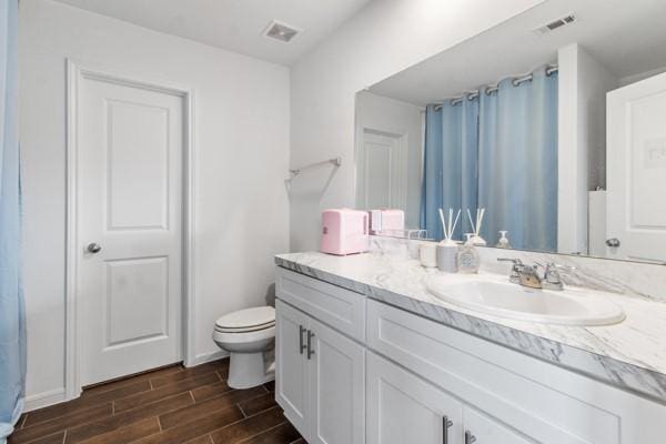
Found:
[[[597,406],[603,384],[376,301],[367,310],[370,349],[526,436],[620,442],[619,416]]]

